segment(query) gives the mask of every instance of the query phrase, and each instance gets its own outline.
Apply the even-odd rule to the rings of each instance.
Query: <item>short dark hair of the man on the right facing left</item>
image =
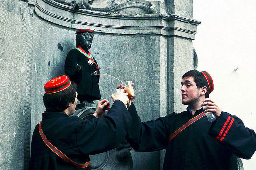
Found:
[[[190,77],[190,76],[194,78],[194,82],[196,83],[197,88],[202,88],[204,86],[207,87],[207,92],[205,94],[205,98],[208,98],[209,97],[209,86],[208,86],[206,78],[204,77],[204,74],[202,72],[199,72],[198,70],[190,70],[190,71],[186,72],[185,74],[183,74],[182,79],[184,77]]]

